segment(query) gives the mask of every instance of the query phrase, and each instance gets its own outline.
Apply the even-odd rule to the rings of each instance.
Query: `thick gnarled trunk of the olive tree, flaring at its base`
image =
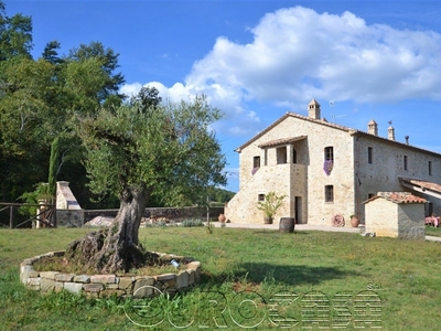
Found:
[[[147,263],[147,254],[139,244],[139,226],[150,191],[126,188],[120,207],[109,228],[92,232],[71,243],[66,258],[97,273],[128,271]]]

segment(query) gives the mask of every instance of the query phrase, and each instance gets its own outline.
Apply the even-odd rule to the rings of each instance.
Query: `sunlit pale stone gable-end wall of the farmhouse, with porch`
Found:
[[[259,147],[268,141],[294,137],[299,140],[286,143],[287,163],[277,163],[277,148],[283,145]],[[355,211],[353,140],[347,130],[323,120],[297,115],[284,117],[241,149],[239,192],[227,204],[227,218],[261,222],[262,216],[257,211],[258,194],[276,191],[289,195],[278,216],[294,217],[298,196],[301,223],[331,225],[335,214],[348,220]],[[334,168],[326,175],[323,171],[324,149],[330,146],[334,150]],[[293,163],[293,149],[297,163]],[[260,157],[261,162],[260,169],[252,174],[255,157]],[[325,185],[334,186],[334,202],[325,202]]]

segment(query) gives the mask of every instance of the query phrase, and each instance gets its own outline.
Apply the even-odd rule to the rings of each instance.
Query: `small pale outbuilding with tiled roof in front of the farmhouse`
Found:
[[[426,199],[409,192],[378,192],[365,201],[365,226],[376,236],[424,239]]]

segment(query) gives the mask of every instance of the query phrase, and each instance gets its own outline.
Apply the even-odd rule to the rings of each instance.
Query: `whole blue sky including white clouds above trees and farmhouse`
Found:
[[[439,0],[6,0],[33,20],[33,54],[101,42],[120,54],[122,92],[153,85],[164,98],[206,94],[238,190],[234,151],[315,98],[330,121],[441,152]]]

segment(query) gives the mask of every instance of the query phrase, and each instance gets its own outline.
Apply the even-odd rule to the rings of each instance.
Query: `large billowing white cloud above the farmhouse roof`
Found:
[[[254,41],[248,44],[218,38],[183,84],[146,85],[157,84],[161,96],[171,100],[206,94],[225,113],[234,135],[249,135],[259,127],[249,100],[297,110],[312,98],[441,99],[439,33],[367,25],[351,12],[318,13],[302,7],[267,13],[250,32]],[[122,92],[140,87],[135,83]]]

